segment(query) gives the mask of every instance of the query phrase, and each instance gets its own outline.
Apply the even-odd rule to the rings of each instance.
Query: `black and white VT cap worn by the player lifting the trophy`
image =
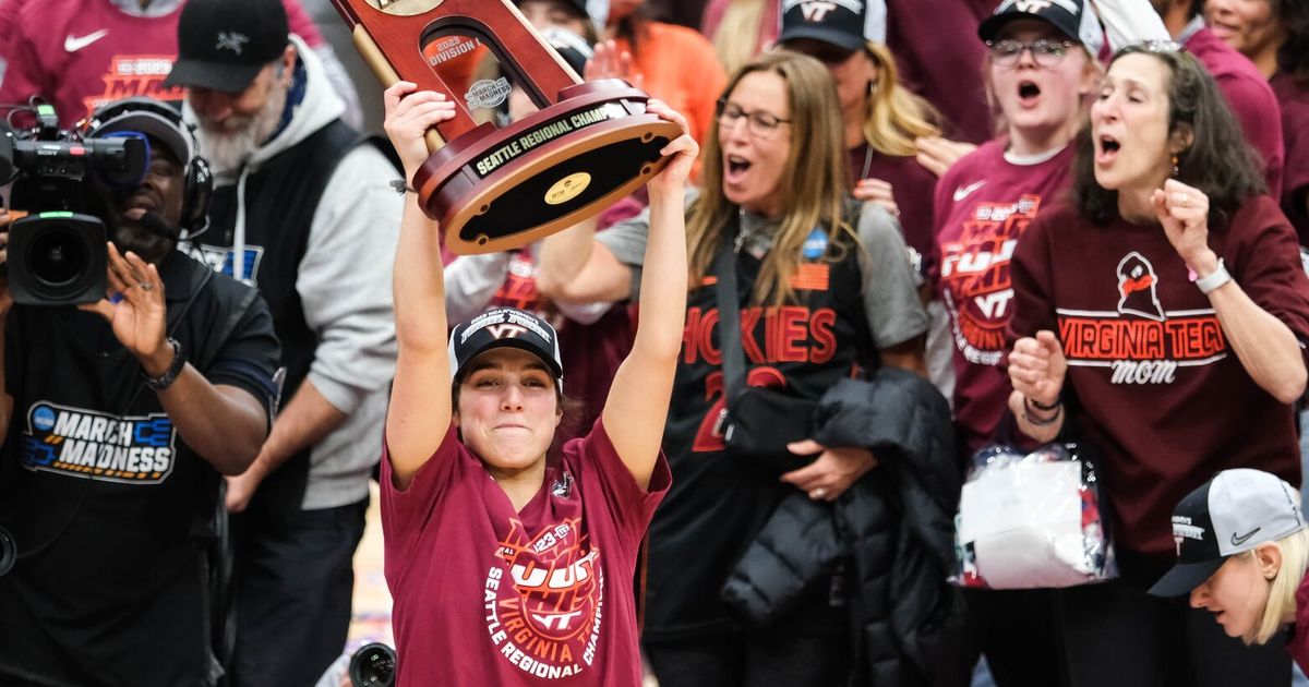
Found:
[[[521,348],[546,364],[563,389],[564,364],[559,357],[559,335],[548,322],[516,308],[495,308],[457,325],[450,331],[450,377],[473,359],[503,345]]]

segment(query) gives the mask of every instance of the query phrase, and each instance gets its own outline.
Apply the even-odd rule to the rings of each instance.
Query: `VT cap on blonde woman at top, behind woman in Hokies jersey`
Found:
[[[886,42],[885,0],[783,0],[778,43],[812,38],[855,51],[869,41]]]

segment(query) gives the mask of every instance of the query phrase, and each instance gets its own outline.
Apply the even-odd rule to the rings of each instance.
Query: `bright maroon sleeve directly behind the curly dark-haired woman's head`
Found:
[[[1245,55],[1240,54],[1208,29],[1200,29],[1186,41],[1186,51],[1195,55],[1210,71],[1232,113],[1241,122],[1245,140],[1264,164],[1268,194],[1282,198],[1282,169],[1285,149],[1282,143],[1282,114],[1268,81]]]

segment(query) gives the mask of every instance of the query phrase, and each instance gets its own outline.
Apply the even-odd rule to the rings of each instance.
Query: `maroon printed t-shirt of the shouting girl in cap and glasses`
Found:
[[[954,340],[954,421],[965,455],[991,441],[1009,398],[997,364],[1013,315],[1009,259],[1028,222],[1068,187],[1073,147],[1035,164],[994,140],[959,158],[936,187],[937,293]]]

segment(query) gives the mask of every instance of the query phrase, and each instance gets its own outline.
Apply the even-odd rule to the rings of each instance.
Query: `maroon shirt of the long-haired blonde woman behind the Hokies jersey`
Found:
[[[936,192],[936,174],[912,157],[882,154],[867,143],[850,150],[850,169],[859,179],[881,179],[891,185],[891,195],[899,207],[901,233],[905,245],[916,253],[915,267],[928,273],[935,255],[932,230],[932,195]]]

